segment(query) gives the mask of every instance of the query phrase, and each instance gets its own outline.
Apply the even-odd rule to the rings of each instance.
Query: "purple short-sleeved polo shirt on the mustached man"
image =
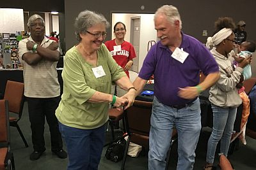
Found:
[[[205,46],[197,39],[183,34],[179,48],[189,53],[182,64],[173,59],[172,51],[161,41],[150,48],[139,73],[139,77],[148,80],[154,74],[154,94],[168,106],[180,106],[189,102],[177,95],[180,88],[193,87],[199,83],[199,74],[205,76],[219,71],[218,64]]]

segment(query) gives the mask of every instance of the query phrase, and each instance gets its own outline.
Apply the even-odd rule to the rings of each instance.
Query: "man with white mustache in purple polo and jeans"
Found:
[[[172,129],[178,132],[177,169],[193,169],[201,129],[198,95],[220,77],[218,64],[200,41],[181,32],[174,6],[164,5],[154,16],[157,37],[134,81],[137,94],[154,74],[154,101],[149,136],[148,169],[164,169]],[[205,81],[199,83],[200,71]]]

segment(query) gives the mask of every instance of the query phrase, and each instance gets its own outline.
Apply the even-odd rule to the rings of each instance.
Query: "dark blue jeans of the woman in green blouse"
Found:
[[[59,122],[59,127],[67,145],[67,169],[98,169],[105,140],[105,125],[96,129],[77,129]]]

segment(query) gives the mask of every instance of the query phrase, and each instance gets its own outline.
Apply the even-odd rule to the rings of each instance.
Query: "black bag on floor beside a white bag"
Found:
[[[118,162],[119,160],[122,160],[124,157],[125,144],[126,141],[124,138],[118,140],[116,143],[111,143],[105,153],[106,159],[113,162]]]

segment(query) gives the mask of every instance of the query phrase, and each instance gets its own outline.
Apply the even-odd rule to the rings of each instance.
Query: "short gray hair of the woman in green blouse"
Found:
[[[100,23],[104,24],[106,28],[109,27],[109,22],[102,14],[89,10],[81,11],[76,17],[74,24],[77,40],[81,41],[79,34],[86,33],[88,28]]]

